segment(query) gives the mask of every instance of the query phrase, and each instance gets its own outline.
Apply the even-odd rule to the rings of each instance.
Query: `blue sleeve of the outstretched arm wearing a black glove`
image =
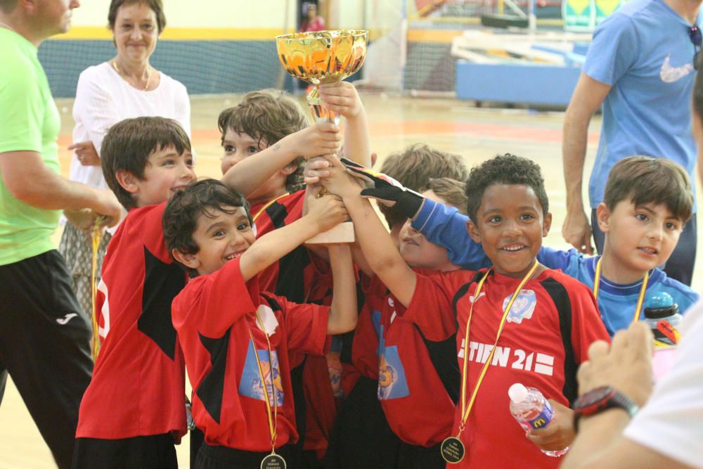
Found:
[[[482,246],[471,239],[466,231],[469,220],[454,207],[425,199],[412,226],[425,238],[446,248],[449,260],[467,270],[479,270],[491,266]]]

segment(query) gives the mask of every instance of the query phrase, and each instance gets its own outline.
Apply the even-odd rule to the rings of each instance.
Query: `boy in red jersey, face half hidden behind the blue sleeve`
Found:
[[[430,179],[424,189],[425,197],[465,210],[463,182]],[[401,256],[413,269],[459,269],[449,262],[446,249],[425,240],[409,220],[396,236]],[[377,464],[408,469],[444,468],[439,444],[449,437],[452,428],[460,377],[455,339],[425,339],[414,323],[397,316],[397,300],[386,285],[373,271],[364,269],[366,303],[352,347],[353,364],[362,375],[356,386],[361,389],[355,386],[344,403],[339,430],[342,435],[335,446],[332,465],[340,469]],[[373,389],[368,389],[370,379]],[[376,411],[379,406],[380,416]],[[354,428],[356,425],[361,425],[363,432]],[[389,437],[389,432],[394,435]]]

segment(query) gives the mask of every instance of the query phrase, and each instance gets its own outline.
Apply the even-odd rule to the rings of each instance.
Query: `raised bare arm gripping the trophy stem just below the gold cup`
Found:
[[[371,146],[368,136],[366,111],[356,88],[349,82],[337,82],[320,86],[320,97],[325,106],[346,119],[344,124],[344,156],[371,167]]]

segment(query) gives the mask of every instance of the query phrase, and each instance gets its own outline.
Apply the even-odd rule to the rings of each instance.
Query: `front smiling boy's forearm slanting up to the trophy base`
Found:
[[[336,197],[315,198],[310,195],[307,204],[309,211],[304,217],[266,233],[244,252],[240,260],[244,281],[248,281],[317,233],[327,231],[349,217],[344,204]]]

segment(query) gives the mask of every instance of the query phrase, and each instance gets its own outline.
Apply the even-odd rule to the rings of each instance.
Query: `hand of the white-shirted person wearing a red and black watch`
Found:
[[[597,340],[588,347],[588,360],[579,367],[579,394],[600,386],[612,386],[638,406],[652,393],[654,336],[644,322],[619,330],[612,345]]]

